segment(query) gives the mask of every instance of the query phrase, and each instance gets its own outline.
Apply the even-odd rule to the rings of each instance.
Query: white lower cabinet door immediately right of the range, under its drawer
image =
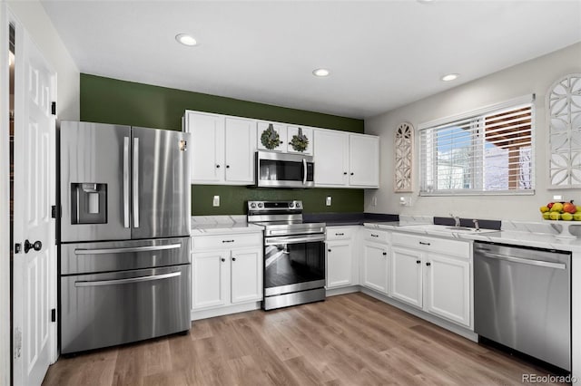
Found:
[[[353,285],[351,240],[327,242],[327,288]]]

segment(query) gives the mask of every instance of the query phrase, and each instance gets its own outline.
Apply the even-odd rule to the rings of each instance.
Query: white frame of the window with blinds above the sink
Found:
[[[447,126],[451,126],[458,121],[468,121],[470,119],[474,120],[476,123],[477,130],[479,131],[476,135],[482,135],[480,133],[484,132],[484,116],[485,115],[492,115],[494,112],[506,111],[510,109],[518,109],[519,107],[527,107],[530,106],[530,185],[531,188],[518,188],[518,189],[503,189],[503,190],[485,190],[485,186],[483,185],[480,188],[459,188],[459,189],[433,189],[428,191],[427,183],[428,183],[428,173],[430,173],[431,180],[437,181],[438,178],[438,162],[437,162],[437,151],[436,147],[433,144],[430,144],[429,147],[426,143],[422,142],[422,138],[424,135],[433,135],[434,138],[429,139],[429,141],[436,140],[436,131],[432,131],[429,134],[425,134],[423,131],[426,130],[434,130],[438,128],[445,128]],[[535,107],[535,94],[528,94],[519,98],[515,98],[509,101],[503,101],[500,103],[495,103],[491,105],[487,105],[475,110],[465,111],[459,114],[451,115],[445,118],[440,118],[434,121],[427,121],[424,123],[419,124],[418,126],[418,140],[419,140],[419,196],[425,197],[434,197],[434,196],[482,196],[482,195],[489,195],[489,196],[531,196],[535,195],[536,189],[536,107]],[[470,130],[474,130],[471,128]],[[428,131],[426,131],[428,133]],[[432,134],[433,133],[433,134]],[[474,135],[474,133],[472,134]],[[476,140],[476,136],[472,138],[472,140]],[[477,149],[474,147],[472,149]],[[430,150],[430,151],[428,151]],[[482,177],[485,173],[485,155],[484,153],[479,154],[478,156],[472,155],[468,161],[470,163],[470,169],[473,171],[473,176],[471,179],[475,179],[475,175]],[[475,165],[478,165],[478,168]],[[423,170],[424,165],[426,166],[426,170]],[[472,185],[475,186],[474,184]]]

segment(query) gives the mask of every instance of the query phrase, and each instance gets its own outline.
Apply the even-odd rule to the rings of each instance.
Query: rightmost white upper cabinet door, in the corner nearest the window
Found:
[[[379,188],[379,137],[350,134],[349,184]]]

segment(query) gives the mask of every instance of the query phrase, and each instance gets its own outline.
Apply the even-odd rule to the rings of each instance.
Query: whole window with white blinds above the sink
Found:
[[[420,195],[534,193],[533,101],[420,125]]]

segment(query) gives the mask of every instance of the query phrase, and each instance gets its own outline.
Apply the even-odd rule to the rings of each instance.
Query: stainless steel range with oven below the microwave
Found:
[[[248,201],[264,227],[264,301],[272,310],[325,299],[325,224],[302,221],[301,201]]]

